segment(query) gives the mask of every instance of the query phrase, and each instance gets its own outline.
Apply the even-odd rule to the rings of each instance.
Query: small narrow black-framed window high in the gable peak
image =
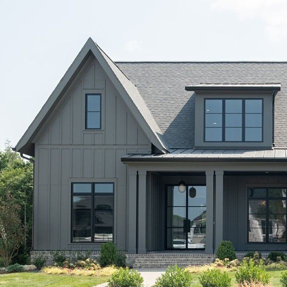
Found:
[[[102,95],[86,94],[86,129],[102,127]]]

